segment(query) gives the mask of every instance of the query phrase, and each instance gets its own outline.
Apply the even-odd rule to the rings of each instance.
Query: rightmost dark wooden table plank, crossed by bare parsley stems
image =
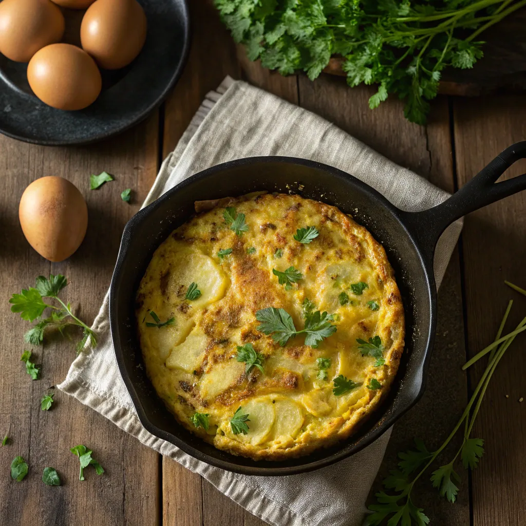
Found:
[[[483,110],[481,110],[483,109]],[[454,134],[459,186],[469,181],[494,156],[526,136],[526,104],[522,97],[456,100]],[[504,179],[526,171],[521,161]],[[514,305],[508,328],[526,314],[526,298],[505,287],[507,279],[526,286],[526,194],[517,194],[470,214],[463,239],[469,355],[488,344],[497,331],[508,300]],[[519,336],[495,371],[474,426],[484,442],[484,458],[472,476],[473,525],[504,526],[524,522],[526,437],[524,378],[526,338]],[[481,360],[485,362],[485,360]],[[472,385],[484,363],[474,367]],[[506,395],[509,398],[506,398]]]

